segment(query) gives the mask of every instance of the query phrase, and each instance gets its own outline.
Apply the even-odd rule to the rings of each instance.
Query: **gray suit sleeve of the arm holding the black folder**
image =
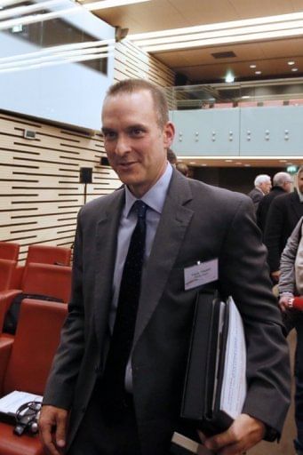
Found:
[[[250,201],[242,200],[227,230],[219,264],[223,293],[233,295],[247,343],[248,394],[243,412],[281,433],[290,403],[289,353]]]

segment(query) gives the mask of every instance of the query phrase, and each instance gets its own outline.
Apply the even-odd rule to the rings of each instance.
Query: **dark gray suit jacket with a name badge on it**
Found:
[[[123,206],[120,189],[86,204],[78,217],[68,319],[44,394],[44,403],[71,409],[70,440],[106,356]],[[233,295],[245,324],[249,390],[243,411],[278,431],[283,426],[290,401],[288,349],[251,199],[173,172],[142,276],[133,342],[133,397],[144,455],[166,453],[171,434],[180,425],[199,290],[184,290],[184,267],[214,258],[219,259],[219,291]]]

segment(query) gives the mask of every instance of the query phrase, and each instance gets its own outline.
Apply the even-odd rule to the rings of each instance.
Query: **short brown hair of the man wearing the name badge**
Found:
[[[151,94],[158,118],[158,125],[160,128],[163,128],[169,121],[169,110],[165,94],[160,87],[144,79],[125,79],[109,87],[106,99],[109,96],[116,96],[119,93],[133,93],[143,90],[147,90]]]

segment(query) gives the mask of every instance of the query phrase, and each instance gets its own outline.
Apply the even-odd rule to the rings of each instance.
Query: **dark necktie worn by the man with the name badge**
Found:
[[[108,405],[112,408],[111,411],[119,408],[125,395],[124,376],[131,354],[140,297],[147,208],[142,201],[136,201],[132,206],[138,219],[124,263],[113,336],[102,379],[102,395],[110,400]]]

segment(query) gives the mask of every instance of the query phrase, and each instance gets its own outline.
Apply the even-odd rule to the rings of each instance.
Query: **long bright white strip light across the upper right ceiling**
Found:
[[[300,35],[303,12],[129,35],[128,39],[146,52],[165,52]]]

